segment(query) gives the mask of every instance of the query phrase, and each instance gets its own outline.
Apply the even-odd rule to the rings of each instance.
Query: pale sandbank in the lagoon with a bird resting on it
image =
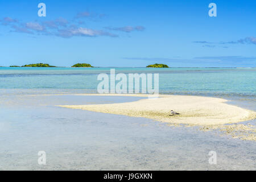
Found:
[[[134,96],[145,94],[84,94],[85,96]],[[100,113],[121,114],[130,117],[144,117],[167,123],[188,125],[222,125],[256,118],[256,112],[225,103],[221,98],[200,96],[160,95],[156,99],[142,99],[135,102],[100,105],[62,105],[71,109],[83,109]],[[170,110],[180,115],[170,116]]]

